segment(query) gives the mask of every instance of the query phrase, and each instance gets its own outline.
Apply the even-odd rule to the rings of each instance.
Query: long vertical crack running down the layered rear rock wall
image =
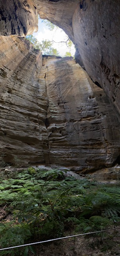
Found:
[[[46,96],[46,84],[44,79],[44,67],[43,67],[43,56],[39,52],[36,58],[35,71],[33,72],[34,88],[37,89],[36,104],[37,104],[37,122],[38,122],[38,136],[39,136],[39,149],[38,149],[38,160],[37,162],[50,164],[49,153],[48,153],[48,132],[45,125],[48,99]],[[41,151],[44,161],[41,162]]]

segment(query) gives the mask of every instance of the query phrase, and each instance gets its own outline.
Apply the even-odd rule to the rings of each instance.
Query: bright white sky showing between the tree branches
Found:
[[[50,41],[54,40],[55,42],[60,41],[66,41],[66,33],[61,29],[57,28],[53,31],[50,31],[48,29],[48,26],[46,26],[45,22],[39,18],[39,24],[38,24],[38,31],[33,33],[33,36],[37,38],[39,42],[42,40],[48,39]],[[60,56],[64,56],[66,52],[69,52],[69,48],[66,46],[65,43],[55,43],[53,42],[53,48],[56,48],[58,52],[60,53]],[[74,46],[71,48],[71,54],[74,56],[75,54],[75,48]]]

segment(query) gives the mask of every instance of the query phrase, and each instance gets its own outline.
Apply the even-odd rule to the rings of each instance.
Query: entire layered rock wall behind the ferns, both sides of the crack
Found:
[[[112,164],[119,123],[103,89],[72,58],[42,57],[23,38],[1,42],[0,156],[83,172]]]

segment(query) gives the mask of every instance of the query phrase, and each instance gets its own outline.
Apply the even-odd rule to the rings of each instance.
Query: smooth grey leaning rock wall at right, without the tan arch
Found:
[[[85,70],[120,114],[120,1],[81,0],[72,27]]]

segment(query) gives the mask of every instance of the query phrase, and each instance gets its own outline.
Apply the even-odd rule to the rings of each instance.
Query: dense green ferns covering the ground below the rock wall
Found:
[[[60,170],[1,175],[0,208],[10,221],[0,222],[0,248],[91,232],[120,224],[120,187],[64,178]],[[9,218],[8,218],[9,219]],[[1,251],[2,255],[36,254],[33,246]]]

